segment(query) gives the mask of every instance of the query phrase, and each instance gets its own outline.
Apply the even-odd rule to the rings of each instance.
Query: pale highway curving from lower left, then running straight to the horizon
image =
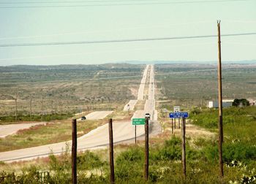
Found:
[[[146,66],[146,71],[148,71],[149,66]],[[154,66],[150,66],[151,72],[150,76],[151,83],[150,88],[148,89],[148,99],[146,100],[145,110],[138,110],[135,112],[134,117],[144,118],[145,112],[150,112],[152,115],[151,119],[154,119]],[[145,73],[145,72],[144,72]],[[147,74],[147,72],[146,72]],[[144,75],[143,75],[144,77]],[[144,91],[145,80],[142,80],[140,84],[140,91]],[[142,92],[140,92],[142,93]],[[143,95],[139,94],[138,99],[142,98]],[[87,115],[88,117],[88,115]],[[130,121],[113,121],[113,141],[114,143],[124,142],[127,140],[134,139],[135,137],[135,126],[132,126],[132,122]],[[137,126],[137,136],[141,137],[144,134],[144,126]],[[155,120],[150,121],[149,123],[149,133],[151,134],[159,134],[161,132],[161,126]],[[69,142],[60,142],[52,145],[43,145],[39,147],[30,147],[26,149],[20,150],[12,150],[8,152],[0,153],[0,161],[21,161],[28,160],[32,158],[37,158],[41,156],[48,156],[49,153],[59,154],[65,150],[66,145],[71,145],[71,141]],[[108,145],[108,124],[103,126],[99,126],[97,129],[90,131],[88,134],[83,135],[78,138],[78,150],[87,150],[87,149],[95,149],[97,147],[106,147]]]

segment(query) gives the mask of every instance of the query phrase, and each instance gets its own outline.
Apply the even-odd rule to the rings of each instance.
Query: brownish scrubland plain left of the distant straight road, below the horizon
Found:
[[[144,66],[132,64],[0,67],[0,116],[113,110],[135,99]],[[30,105],[31,104],[31,105]]]

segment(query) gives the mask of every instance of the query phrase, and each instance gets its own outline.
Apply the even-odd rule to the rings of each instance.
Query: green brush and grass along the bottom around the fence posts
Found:
[[[187,178],[185,180],[181,169],[180,147],[181,139],[178,137],[173,137],[163,144],[151,145],[149,150],[149,179],[148,182],[145,182],[143,178],[144,147],[142,145],[126,146],[117,156],[115,154],[116,183],[220,182],[218,163],[205,159],[200,150],[193,149],[189,145],[187,145]],[[240,163],[225,164],[223,183],[241,181],[243,175],[250,178],[254,175],[252,168],[252,166]],[[17,175],[22,176],[20,181],[26,179],[30,183],[36,183],[37,171],[45,169],[50,172],[49,183],[71,183],[71,158],[68,152],[62,153],[61,156],[50,156],[46,167],[35,164],[23,168],[23,172]],[[0,175],[8,175],[8,173],[0,169]],[[108,183],[109,177],[108,161],[102,160],[97,152],[86,151],[78,154],[79,183]],[[14,180],[12,178],[12,182]]]

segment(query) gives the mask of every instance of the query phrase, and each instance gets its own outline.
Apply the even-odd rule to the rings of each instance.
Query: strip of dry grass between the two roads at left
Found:
[[[107,123],[107,120],[86,120],[78,122],[78,137]],[[45,126],[33,126],[18,131],[18,134],[0,138],[0,151],[18,150],[26,147],[48,145],[72,139],[71,119],[54,121]]]

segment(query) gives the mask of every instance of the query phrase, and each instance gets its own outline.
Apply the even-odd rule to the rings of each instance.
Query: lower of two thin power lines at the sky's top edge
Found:
[[[154,5],[154,4],[200,4],[200,3],[214,3],[214,2],[231,2],[231,1],[252,1],[252,0],[210,0],[210,1],[173,1],[173,2],[140,2],[140,3],[126,3],[126,4],[69,4],[69,5],[45,5],[45,6],[11,6],[0,7],[0,9],[12,8],[50,8],[50,7],[113,7],[113,6],[133,6],[133,5]],[[97,1],[99,2],[99,1]],[[120,2],[120,1],[118,1]],[[70,2],[71,3],[71,2]],[[29,2],[28,2],[29,4]]]

